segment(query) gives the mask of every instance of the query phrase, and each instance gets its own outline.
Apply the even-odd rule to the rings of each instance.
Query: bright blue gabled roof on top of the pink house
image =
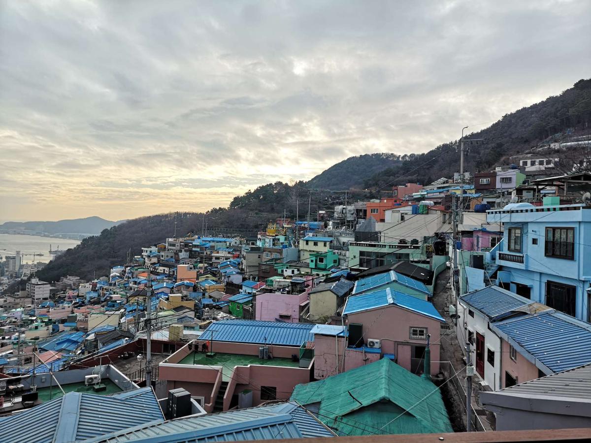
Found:
[[[395,305],[445,323],[445,320],[437,312],[433,303],[413,297],[412,295],[402,294],[402,292],[394,291],[391,288],[350,296],[345,303],[343,315],[388,305]]]

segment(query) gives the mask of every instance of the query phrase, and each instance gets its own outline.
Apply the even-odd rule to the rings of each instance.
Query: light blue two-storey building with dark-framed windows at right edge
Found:
[[[486,221],[503,224],[487,255],[499,286],[591,321],[591,207],[512,203],[487,211]]]

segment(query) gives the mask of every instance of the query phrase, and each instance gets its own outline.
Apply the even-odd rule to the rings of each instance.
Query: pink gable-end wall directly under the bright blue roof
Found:
[[[348,323],[362,323],[363,338],[382,340],[382,354],[395,354],[397,363],[408,370],[411,369],[411,346],[427,344],[425,340],[411,340],[410,327],[427,328],[427,333],[431,334],[431,374],[439,373],[439,363],[437,363],[440,360],[441,324],[439,321],[390,305],[349,314]],[[349,365],[347,366],[347,369],[352,369]]]

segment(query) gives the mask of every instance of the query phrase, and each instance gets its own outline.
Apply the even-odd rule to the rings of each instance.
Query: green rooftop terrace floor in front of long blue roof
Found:
[[[223,354],[214,352],[213,357],[206,357],[203,353],[191,352],[178,364],[202,364],[204,366],[221,366],[222,380],[229,382],[236,366],[248,366],[249,364],[258,364],[263,366],[283,366],[283,367],[300,367],[298,361],[291,361],[291,359],[259,359],[258,356],[247,356],[242,354]]]

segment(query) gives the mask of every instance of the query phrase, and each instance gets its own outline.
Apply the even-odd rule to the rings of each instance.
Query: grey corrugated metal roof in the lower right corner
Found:
[[[591,364],[557,374],[551,374],[531,382],[521,383],[496,391],[499,395],[565,400],[583,399],[591,402]]]

